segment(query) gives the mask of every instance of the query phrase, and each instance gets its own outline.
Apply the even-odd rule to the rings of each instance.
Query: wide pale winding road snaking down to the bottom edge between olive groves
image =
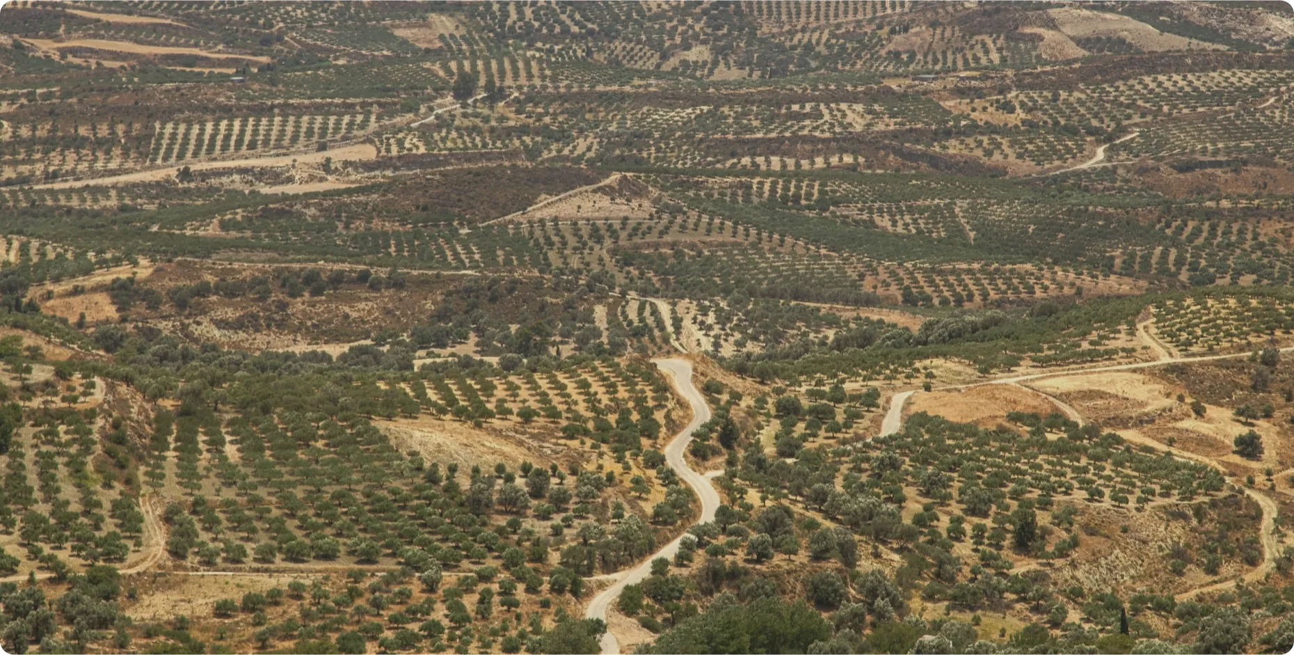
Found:
[[[687,423],[678,436],[665,447],[665,463],[669,465],[678,476],[696,492],[696,496],[701,500],[701,515],[696,519],[696,523],[705,523],[714,520],[714,511],[719,506],[719,494],[714,491],[710,482],[701,474],[694,471],[687,466],[687,461],[683,458],[683,453],[687,452],[687,444],[692,441],[692,432],[700,427],[701,423],[710,419],[710,408],[705,404],[705,399],[701,394],[696,391],[692,386],[692,364],[687,360],[655,360],[656,368],[661,372],[672,374],[674,377],[674,387],[678,392],[687,400],[687,404],[692,406],[692,421]],[[683,536],[679,535],[678,538],[670,541],[665,548],[657,550],[643,563],[628,571],[621,571],[613,573],[616,577],[616,584],[604,589],[598,595],[593,597],[589,602],[589,607],[584,612],[585,619],[602,619],[607,620],[607,610],[611,603],[620,597],[620,592],[628,585],[635,585],[642,583],[651,575],[651,561],[659,557],[673,558],[674,553],[678,553],[678,545],[683,541]],[[620,655],[620,642],[616,636],[608,629],[602,636],[602,655]]]

